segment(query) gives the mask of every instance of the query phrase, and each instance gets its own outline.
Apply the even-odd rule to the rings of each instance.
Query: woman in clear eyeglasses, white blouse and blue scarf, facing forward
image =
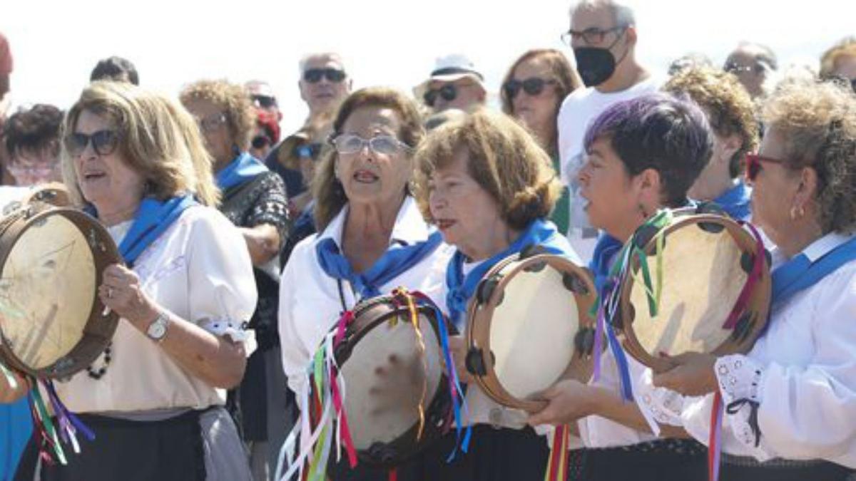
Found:
[[[306,366],[342,311],[401,286],[434,300],[443,289],[451,249],[425,223],[409,187],[423,135],[416,105],[387,88],[354,92],[336,115],[334,149],[312,186],[318,234],[294,247],[280,282],[282,365],[299,403],[307,395]],[[331,478],[388,476],[347,465],[342,460]],[[399,478],[407,476],[402,467]]]

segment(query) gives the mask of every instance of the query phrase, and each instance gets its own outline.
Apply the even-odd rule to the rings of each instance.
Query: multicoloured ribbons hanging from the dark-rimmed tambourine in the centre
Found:
[[[457,425],[459,444],[462,431],[461,411],[467,413],[466,403],[461,395],[460,383],[455,374],[454,363],[452,363],[449,352],[449,335],[443,318],[443,313],[425,294],[409,292],[399,288],[393,292],[393,300],[397,306],[407,308],[409,316],[407,321],[416,330],[417,339],[422,352],[425,352],[425,340],[419,329],[419,307],[429,306],[437,313],[439,319],[440,338],[443,347],[443,359],[447,360],[447,375],[449,377],[452,405],[455,412],[455,423]],[[276,479],[291,479],[295,473],[299,473],[300,479],[306,481],[324,481],[326,477],[326,466],[330,459],[330,451],[336,448],[337,460],[340,459],[342,449],[348,455],[348,463],[351,467],[357,466],[358,458],[354,442],[348,429],[348,417],[345,413],[345,399],[347,389],[344,378],[336,364],[336,347],[338,347],[345,336],[348,325],[354,321],[354,312],[342,313],[336,324],[336,330],[324,337],[321,347],[312,358],[312,365],[307,370],[307,381],[312,389],[306,389],[305,397],[300,404],[300,420],[288,435],[282,445],[276,466]],[[393,318],[390,322],[398,322]],[[449,367],[451,366],[451,367]],[[425,389],[427,386],[425,386]],[[424,392],[420,402],[419,413],[419,436],[425,427],[424,401],[427,393]],[[295,456],[297,442],[300,442],[299,454]],[[461,450],[467,451],[469,443],[469,431]],[[457,446],[455,451],[457,450]],[[453,452],[449,459],[454,457]],[[288,469],[285,469],[288,466]],[[392,476],[394,474],[390,474]]]

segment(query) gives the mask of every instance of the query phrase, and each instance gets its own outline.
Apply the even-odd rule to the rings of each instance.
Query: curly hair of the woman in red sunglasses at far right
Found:
[[[823,233],[856,229],[856,97],[844,86],[784,80],[764,103],[762,120],[782,134],[784,162],[817,172]]]

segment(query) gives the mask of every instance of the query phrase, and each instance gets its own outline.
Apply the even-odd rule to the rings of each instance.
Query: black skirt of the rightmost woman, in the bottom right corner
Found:
[[[829,461],[770,460],[722,456],[722,481],[845,481],[853,470]]]

